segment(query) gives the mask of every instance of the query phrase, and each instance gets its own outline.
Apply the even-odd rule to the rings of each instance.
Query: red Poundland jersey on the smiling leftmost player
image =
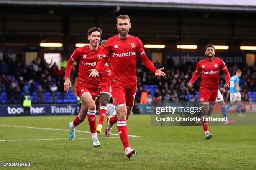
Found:
[[[89,45],[79,47],[74,50],[71,59],[78,61],[78,80],[77,83],[85,85],[88,88],[100,88],[100,76],[89,77],[90,69],[96,68],[97,62],[100,61],[103,47],[99,45],[98,49],[90,50]]]

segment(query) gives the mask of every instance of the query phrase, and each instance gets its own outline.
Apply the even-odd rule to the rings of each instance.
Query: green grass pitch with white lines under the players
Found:
[[[201,126],[151,126],[151,115],[131,115],[128,133],[138,137],[129,138],[137,151],[129,160],[118,135],[100,134],[100,148],[92,146],[90,133],[77,132],[69,141],[64,130],[74,117],[0,117],[0,162],[31,161],[31,170],[256,169],[256,126],[210,126],[212,138],[205,140]],[[88,121],[76,130],[90,131]]]

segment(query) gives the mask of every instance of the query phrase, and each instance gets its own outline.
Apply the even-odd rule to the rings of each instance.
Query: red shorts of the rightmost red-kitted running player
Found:
[[[217,96],[218,96],[218,90],[216,90],[216,92],[212,92],[202,88],[200,88],[199,90],[200,103],[209,103],[210,105],[214,106]]]

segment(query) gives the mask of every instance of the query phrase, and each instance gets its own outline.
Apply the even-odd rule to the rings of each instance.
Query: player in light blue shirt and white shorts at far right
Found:
[[[241,114],[241,94],[240,94],[240,87],[239,87],[239,77],[241,77],[241,70],[236,71],[236,75],[233,75],[230,79],[230,103],[226,106],[226,109],[228,110],[229,107],[231,107],[235,102],[238,102],[237,104],[237,112],[239,117],[245,117],[245,115]]]

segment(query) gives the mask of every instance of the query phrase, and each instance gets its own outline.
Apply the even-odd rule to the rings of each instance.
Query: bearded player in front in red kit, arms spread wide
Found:
[[[108,125],[105,129],[105,134],[109,136],[113,124],[117,123],[118,133],[123,143],[125,155],[130,158],[136,152],[134,149],[131,149],[128,142],[126,120],[131,113],[136,94],[137,56],[141,58],[146,68],[156,76],[164,76],[165,74],[161,71],[164,68],[157,70],[153,63],[148,60],[141,40],[129,35],[131,23],[128,15],[120,15],[116,21],[118,35],[107,40],[102,53],[102,59],[98,62],[96,69],[89,71],[92,71],[90,76],[98,76],[99,71],[102,70],[105,62],[110,58],[112,100],[117,114],[114,117],[110,116],[107,118]]]

